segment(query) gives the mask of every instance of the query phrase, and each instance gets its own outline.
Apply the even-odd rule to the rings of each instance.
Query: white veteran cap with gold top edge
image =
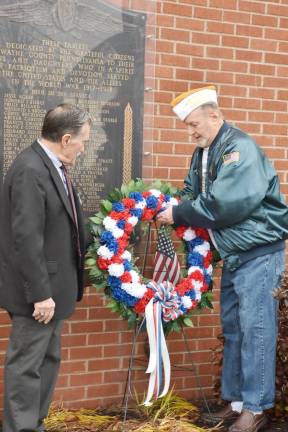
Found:
[[[182,93],[172,100],[171,106],[180,120],[184,121],[192,111],[209,102],[214,102],[218,105],[216,87],[214,85],[207,85]]]

